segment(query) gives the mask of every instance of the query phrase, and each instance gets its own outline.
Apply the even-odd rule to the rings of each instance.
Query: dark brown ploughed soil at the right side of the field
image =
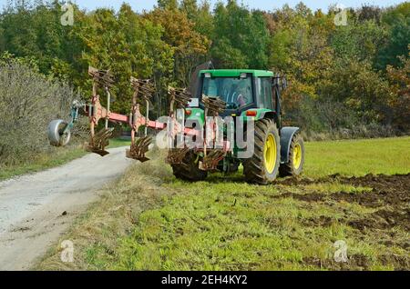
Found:
[[[357,188],[366,188],[363,192],[336,192],[319,193],[304,189],[309,184],[323,184],[339,182],[350,184]],[[361,177],[344,177],[333,174],[319,179],[288,178],[279,181],[284,190],[283,194],[274,195],[273,198],[292,197],[303,202],[320,202],[323,204],[359,204],[373,213],[351,216],[348,212],[342,219],[334,219],[332,216],[321,216],[313,219],[302,220],[306,225],[330,226],[334,222],[344,224],[357,230],[357,236],[362,240],[370,240],[372,237],[379,244],[396,246],[404,249],[407,254],[379,255],[381,264],[393,264],[395,270],[410,269],[410,239],[403,235],[410,234],[410,174],[374,175],[367,174]],[[301,193],[287,192],[289,186],[297,186]],[[401,232],[399,237],[399,233]],[[305,258],[303,262],[320,268],[339,270],[366,270],[372,264],[368,256],[353,254],[349,256],[348,263],[335,263],[331,259],[320,260],[317,258]]]

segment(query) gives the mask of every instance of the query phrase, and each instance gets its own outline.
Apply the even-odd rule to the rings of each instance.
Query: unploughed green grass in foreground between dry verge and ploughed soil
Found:
[[[332,263],[333,244],[343,240],[351,256],[364,255],[374,260],[370,268],[388,269],[377,256],[408,253],[399,246],[378,244],[380,236],[372,232],[358,234],[343,220],[343,210],[348,210],[349,219],[373,212],[360,205],[274,199],[283,187],[221,180],[195,185],[175,181],[167,188],[180,193],[140,214],[133,233],[119,243],[118,259],[108,261],[101,248],[88,248],[99,251],[98,262],[114,270],[313,270],[317,266],[304,260]],[[306,188],[293,192],[313,193]],[[330,224],[316,223],[321,218]],[[396,238],[405,237],[403,230],[396,233]],[[90,260],[98,267],[94,262]]]

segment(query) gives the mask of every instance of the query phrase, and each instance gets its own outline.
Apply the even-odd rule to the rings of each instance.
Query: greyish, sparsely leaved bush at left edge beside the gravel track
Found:
[[[31,159],[49,148],[47,125],[67,119],[75,94],[18,61],[0,64],[0,166]]]

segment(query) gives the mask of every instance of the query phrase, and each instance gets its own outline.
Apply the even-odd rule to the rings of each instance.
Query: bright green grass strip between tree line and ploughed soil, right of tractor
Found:
[[[306,143],[304,174],[405,174],[410,137]]]

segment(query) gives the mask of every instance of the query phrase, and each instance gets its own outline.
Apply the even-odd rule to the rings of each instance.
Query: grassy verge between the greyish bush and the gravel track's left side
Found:
[[[129,145],[130,142],[121,139],[110,140],[109,147]],[[70,145],[64,148],[49,148],[47,153],[36,154],[30,161],[20,164],[0,166],[0,181],[16,175],[36,173],[68,162],[86,155],[83,145]]]

